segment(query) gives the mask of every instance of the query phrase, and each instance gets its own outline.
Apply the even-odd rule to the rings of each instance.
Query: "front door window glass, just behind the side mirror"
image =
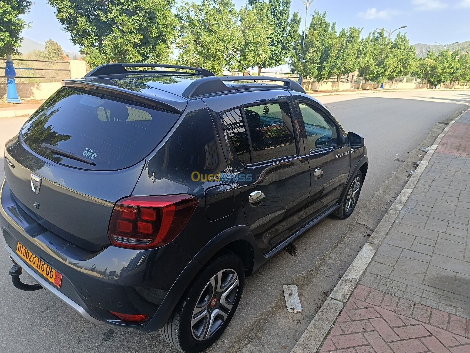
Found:
[[[303,103],[300,103],[299,107],[304,119],[310,153],[339,145],[336,125],[325,112]]]

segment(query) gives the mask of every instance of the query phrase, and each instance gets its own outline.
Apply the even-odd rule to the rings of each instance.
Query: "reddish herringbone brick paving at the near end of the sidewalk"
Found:
[[[411,290],[419,293],[420,289],[412,287]],[[383,297],[381,305],[388,305],[391,310],[356,299],[367,300],[370,294]],[[423,295],[429,293],[423,292]],[[469,353],[469,322],[403,298],[378,294],[376,290],[360,285],[352,293],[320,352]],[[455,351],[456,348],[459,350]]]

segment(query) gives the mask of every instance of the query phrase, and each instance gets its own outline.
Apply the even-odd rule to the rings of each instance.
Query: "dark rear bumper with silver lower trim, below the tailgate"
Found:
[[[144,251],[109,246],[91,253],[51,231],[30,234],[38,227],[25,215],[24,205],[15,203],[6,182],[0,192],[0,232],[10,257],[43,288],[91,322],[146,332],[159,329],[201,268],[173,243]],[[16,254],[17,242],[62,274],[60,288]],[[149,318],[142,324],[132,324],[117,320],[110,311],[146,314]]]

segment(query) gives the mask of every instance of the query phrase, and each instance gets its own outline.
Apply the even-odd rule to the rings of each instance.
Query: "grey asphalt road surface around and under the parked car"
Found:
[[[209,352],[289,352],[407,182],[419,147],[432,144],[446,120],[470,104],[470,92],[383,92],[319,100],[346,131],[365,137],[370,164],[359,203],[352,217],[327,217],[248,278],[233,321]],[[24,120],[0,119],[2,145]],[[46,291],[15,289],[10,267],[1,238],[1,352],[173,352],[157,332],[95,325]],[[302,313],[287,313],[282,284],[298,285]]]

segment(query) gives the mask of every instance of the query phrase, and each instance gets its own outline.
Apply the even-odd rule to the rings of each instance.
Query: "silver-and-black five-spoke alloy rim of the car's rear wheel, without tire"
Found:
[[[238,292],[235,270],[219,271],[204,287],[191,316],[191,332],[198,341],[211,337],[227,320]]]

